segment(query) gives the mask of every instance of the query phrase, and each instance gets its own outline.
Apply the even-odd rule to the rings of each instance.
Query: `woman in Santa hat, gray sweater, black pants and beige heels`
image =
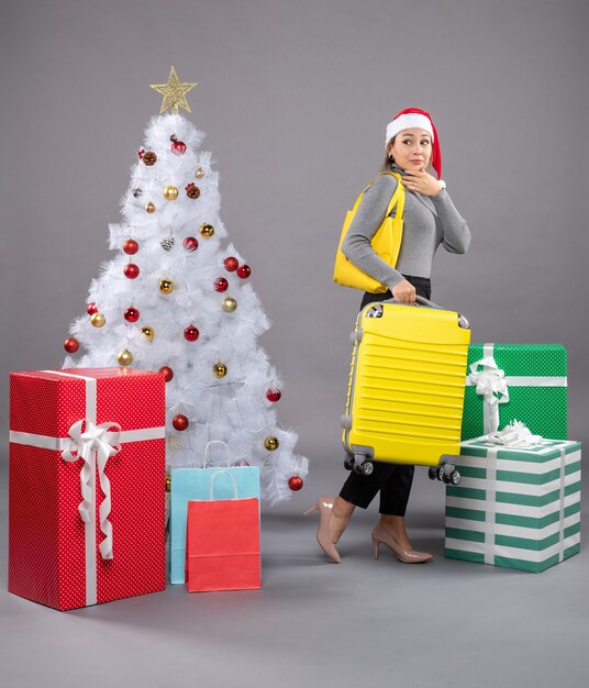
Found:
[[[399,173],[405,187],[403,238],[397,268],[373,251],[371,238],[397,188],[392,175],[381,175],[366,189],[342,244],[342,252],[352,263],[388,287],[385,293],[365,293],[360,308],[390,298],[400,303],[413,303],[416,295],[430,299],[432,262],[440,244],[451,253],[465,253],[470,243],[470,231],[440,179],[442,155],[430,114],[416,108],[399,112],[387,126],[386,148],[384,170]],[[437,179],[429,167],[436,171]],[[433,558],[413,550],[404,528],[413,473],[411,465],[375,462],[371,475],[352,471],[338,497],[321,497],[305,511],[319,510],[318,542],[333,562],[341,562],[336,544],[354,509],[366,509],[379,491],[380,521],[373,530],[375,557],[379,545],[385,544],[405,564]]]

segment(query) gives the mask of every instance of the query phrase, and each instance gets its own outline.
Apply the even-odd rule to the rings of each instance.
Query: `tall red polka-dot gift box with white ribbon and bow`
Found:
[[[10,376],[10,592],[60,611],[165,588],[165,379]]]

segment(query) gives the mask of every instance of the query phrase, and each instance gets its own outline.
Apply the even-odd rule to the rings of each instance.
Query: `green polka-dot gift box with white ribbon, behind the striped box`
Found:
[[[567,349],[562,344],[470,344],[462,439],[519,420],[567,439]]]

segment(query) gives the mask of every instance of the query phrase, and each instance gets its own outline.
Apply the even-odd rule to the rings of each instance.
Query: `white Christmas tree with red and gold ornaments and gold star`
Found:
[[[89,290],[76,319],[64,368],[133,366],[166,377],[167,463],[202,466],[207,443],[225,442],[233,463],[257,465],[270,503],[302,487],[308,460],[297,434],[277,422],[281,381],[258,345],[269,328],[249,282],[251,268],[220,218],[219,175],[188,111],[174,67],[162,112],[145,131],[121,224],[111,224],[118,255]],[[78,351],[80,345],[84,348]]]

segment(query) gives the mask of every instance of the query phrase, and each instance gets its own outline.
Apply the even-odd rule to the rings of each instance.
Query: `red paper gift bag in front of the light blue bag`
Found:
[[[234,499],[214,500],[214,481],[227,476]],[[189,501],[186,530],[186,588],[189,592],[262,588],[259,500],[237,499],[235,478],[213,474],[208,501]]]

